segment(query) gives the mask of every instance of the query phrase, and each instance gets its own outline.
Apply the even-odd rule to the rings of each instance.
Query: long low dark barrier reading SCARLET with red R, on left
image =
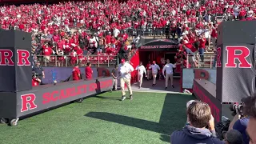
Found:
[[[37,86],[33,90],[1,93],[0,118],[19,118],[113,88],[113,78],[70,81]],[[2,99],[2,100],[1,100]]]

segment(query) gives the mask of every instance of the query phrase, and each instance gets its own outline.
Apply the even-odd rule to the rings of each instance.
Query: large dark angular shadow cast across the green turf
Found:
[[[194,99],[194,97],[185,97],[182,96],[182,94],[166,94],[159,122],[150,122],[139,118],[131,118],[107,112],[90,112],[85,116],[154,131],[161,134],[160,139],[162,141],[170,142],[170,134],[174,130],[182,129],[186,123],[186,102],[190,99]]]

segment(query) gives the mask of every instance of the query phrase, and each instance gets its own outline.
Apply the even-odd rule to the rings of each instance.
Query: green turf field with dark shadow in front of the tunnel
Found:
[[[134,93],[119,101],[120,92],[99,94],[18,122],[0,125],[6,144],[161,144],[186,122],[188,94]]]

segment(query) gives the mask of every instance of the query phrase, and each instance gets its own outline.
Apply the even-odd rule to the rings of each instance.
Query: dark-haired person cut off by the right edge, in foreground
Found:
[[[250,118],[247,126],[250,144],[256,144],[256,94],[251,97],[242,98],[242,102],[244,103],[242,112]]]

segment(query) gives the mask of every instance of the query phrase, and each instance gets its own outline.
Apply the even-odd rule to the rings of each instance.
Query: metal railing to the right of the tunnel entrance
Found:
[[[216,68],[215,54],[187,54],[185,68]],[[184,66],[184,65],[183,65]]]

